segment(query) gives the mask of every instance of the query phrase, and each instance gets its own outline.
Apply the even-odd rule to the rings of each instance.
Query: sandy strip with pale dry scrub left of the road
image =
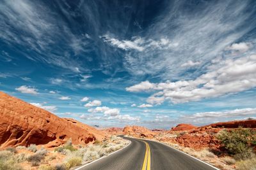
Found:
[[[128,144],[113,136],[106,141],[94,141],[89,145],[72,145],[71,139],[63,146],[45,149],[36,145],[17,146],[0,151],[0,169],[67,170],[108,155]]]

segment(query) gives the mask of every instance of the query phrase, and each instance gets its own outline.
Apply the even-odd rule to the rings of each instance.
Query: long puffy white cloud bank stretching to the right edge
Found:
[[[207,97],[241,92],[256,87],[256,55],[239,59],[227,59],[211,66],[211,70],[195,80],[166,83],[141,82],[126,88],[129,91],[159,90],[148,97],[150,104],[161,104],[164,100],[172,103],[198,101]]]

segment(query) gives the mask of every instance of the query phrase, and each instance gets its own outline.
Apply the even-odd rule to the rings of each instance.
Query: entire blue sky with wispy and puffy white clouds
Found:
[[[0,90],[89,125],[256,117],[255,1],[1,1]]]

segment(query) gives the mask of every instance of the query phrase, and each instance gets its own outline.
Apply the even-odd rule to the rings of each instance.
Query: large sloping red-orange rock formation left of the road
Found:
[[[28,146],[32,143],[57,146],[70,138],[74,144],[85,144],[97,137],[104,138],[92,127],[57,117],[49,111],[0,92],[1,147]]]

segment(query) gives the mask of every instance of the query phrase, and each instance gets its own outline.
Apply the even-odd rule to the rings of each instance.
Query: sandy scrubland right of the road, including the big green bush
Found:
[[[214,145],[211,143],[212,148],[193,149],[192,147],[185,147],[175,142],[175,139],[184,134],[188,134],[188,132],[160,133],[154,139],[208,162],[219,169],[256,169],[256,129],[239,127],[235,129],[222,129],[219,132],[214,132],[214,129],[212,129],[191,134],[192,140],[193,136],[209,135],[218,139],[219,143]],[[200,143],[199,140],[198,143]]]

